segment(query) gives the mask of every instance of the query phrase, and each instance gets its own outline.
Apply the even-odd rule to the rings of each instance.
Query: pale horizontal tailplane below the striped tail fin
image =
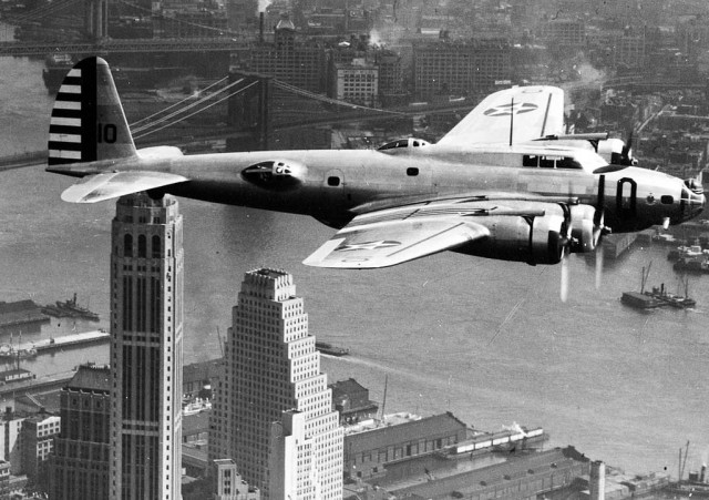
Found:
[[[165,172],[111,172],[90,175],[62,193],[71,203],[96,203],[141,191],[189,181],[182,175]]]

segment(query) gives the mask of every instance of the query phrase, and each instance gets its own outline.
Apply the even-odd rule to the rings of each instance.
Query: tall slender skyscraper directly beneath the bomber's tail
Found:
[[[182,215],[172,196],[116,203],[111,243],[111,499],[178,499]]]

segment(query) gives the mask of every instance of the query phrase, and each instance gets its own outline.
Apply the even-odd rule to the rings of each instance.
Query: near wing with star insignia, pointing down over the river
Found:
[[[483,238],[479,223],[458,214],[415,216],[417,208],[358,215],[304,261],[316,267],[377,268],[413,261]]]

